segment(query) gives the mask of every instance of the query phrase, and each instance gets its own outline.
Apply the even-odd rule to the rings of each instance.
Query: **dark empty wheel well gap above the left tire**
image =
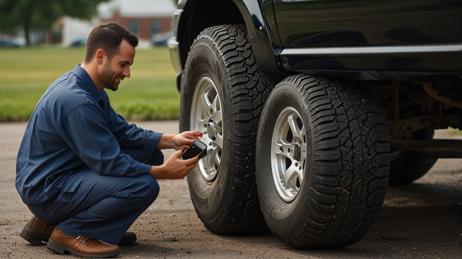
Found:
[[[221,24],[245,24],[233,0],[189,0],[178,24],[177,40],[184,68],[189,48],[205,28]]]

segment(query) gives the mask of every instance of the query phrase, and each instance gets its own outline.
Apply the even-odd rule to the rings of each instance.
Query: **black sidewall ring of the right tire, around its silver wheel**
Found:
[[[291,202],[284,201],[275,186],[272,172],[271,150],[276,121],[284,108],[293,107],[302,117],[307,144],[306,166],[299,192]],[[271,141],[268,141],[271,140]],[[309,187],[313,168],[313,136],[309,113],[303,97],[294,85],[281,84],[268,98],[260,120],[256,177],[261,209],[266,223],[278,234],[287,234],[302,224],[305,211],[309,207]]]

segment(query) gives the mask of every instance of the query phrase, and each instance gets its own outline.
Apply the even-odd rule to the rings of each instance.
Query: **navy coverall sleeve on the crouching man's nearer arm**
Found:
[[[73,108],[58,134],[93,171],[107,176],[139,176],[151,166],[121,153],[118,140],[105,127],[103,111],[94,104]]]

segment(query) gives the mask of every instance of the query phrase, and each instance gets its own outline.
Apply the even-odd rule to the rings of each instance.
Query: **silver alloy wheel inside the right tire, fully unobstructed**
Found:
[[[276,121],[271,145],[273,179],[279,196],[291,202],[303,182],[306,128],[297,110],[287,107]]]

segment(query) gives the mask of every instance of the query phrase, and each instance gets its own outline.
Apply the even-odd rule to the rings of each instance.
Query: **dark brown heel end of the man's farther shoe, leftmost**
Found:
[[[32,218],[27,221],[19,235],[27,240],[31,245],[40,245],[42,241],[48,242],[48,239],[55,227],[56,225],[53,223],[47,223],[35,216],[32,216]]]

